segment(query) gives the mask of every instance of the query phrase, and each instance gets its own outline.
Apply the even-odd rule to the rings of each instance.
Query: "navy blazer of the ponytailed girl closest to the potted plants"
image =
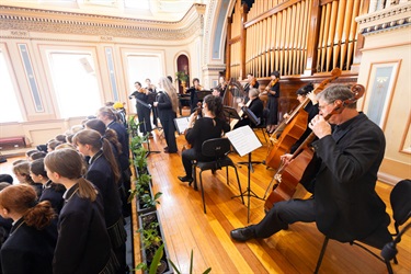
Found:
[[[111,227],[122,217],[122,202],[118,194],[118,185],[114,182],[114,174],[110,163],[99,151],[92,159],[85,174],[85,179],[92,182],[103,197],[104,219],[106,227]]]

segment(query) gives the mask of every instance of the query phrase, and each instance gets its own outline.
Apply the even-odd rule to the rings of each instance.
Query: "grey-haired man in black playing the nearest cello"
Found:
[[[346,105],[328,122],[324,119],[352,96],[346,85],[329,87],[317,96],[320,112],[309,123],[309,128],[318,137],[312,142],[316,149],[313,160],[320,164],[312,175],[313,197],[275,203],[259,224],[232,230],[232,239],[269,238],[296,221],[316,221],[322,233],[342,242],[361,240],[369,243],[374,232],[388,233],[390,218],[375,191],[386,146],[383,130],[364,113],[356,111],[356,103]],[[333,130],[330,124],[335,125]],[[282,159],[288,168],[298,157],[289,161],[289,155],[285,155]],[[304,183],[304,186],[309,185]],[[388,233],[387,242],[390,240]]]

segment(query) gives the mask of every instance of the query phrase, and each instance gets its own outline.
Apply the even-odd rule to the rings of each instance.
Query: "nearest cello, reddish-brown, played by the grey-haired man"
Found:
[[[365,88],[362,84],[354,84],[351,88],[351,91],[353,92],[353,96],[343,102],[338,102],[339,104],[324,117],[326,121],[328,121],[334,114],[340,114],[346,105],[355,103],[359,98],[363,96]],[[272,181],[275,181],[276,183],[264,203],[265,212],[269,212],[275,203],[290,199],[296,192],[298,183],[312,178],[311,174],[315,168],[315,161],[312,161],[313,150],[311,147],[309,147],[309,144],[311,144],[315,138],[316,135],[311,133],[292,155],[290,160],[293,161],[289,162],[289,164],[282,162]],[[266,193],[270,191],[270,189],[271,183],[266,190]]]

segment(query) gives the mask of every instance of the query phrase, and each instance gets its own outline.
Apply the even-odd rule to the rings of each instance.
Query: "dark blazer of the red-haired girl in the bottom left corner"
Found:
[[[53,273],[53,254],[57,242],[57,228],[54,221],[37,230],[28,227],[24,219],[18,220],[10,236],[1,247],[1,264],[8,273]]]

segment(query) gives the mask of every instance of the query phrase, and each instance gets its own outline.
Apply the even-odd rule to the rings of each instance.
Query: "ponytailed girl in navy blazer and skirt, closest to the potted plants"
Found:
[[[126,267],[126,230],[122,214],[122,202],[118,193],[121,176],[117,161],[111,142],[105,135],[96,130],[83,129],[72,138],[80,153],[89,156],[89,169],[85,179],[101,192],[104,205],[104,218],[113,251],[122,269]]]

